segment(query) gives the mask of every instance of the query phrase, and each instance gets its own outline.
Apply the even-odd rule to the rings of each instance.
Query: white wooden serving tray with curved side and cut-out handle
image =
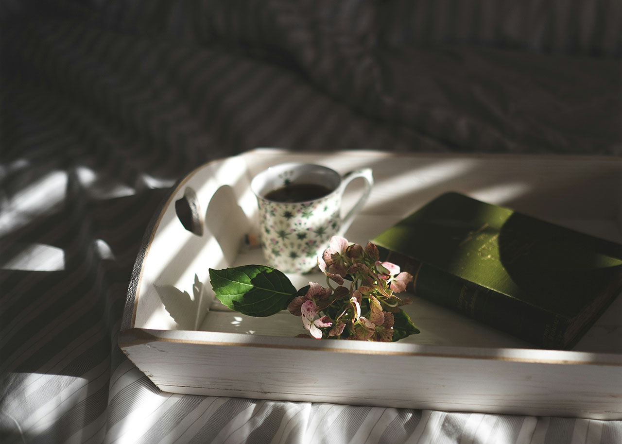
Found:
[[[450,190],[622,240],[616,158],[258,149],[211,162],[183,178],[154,215],[129,285],[119,346],[160,389],[622,419],[622,297],[572,351],[533,349],[418,298],[407,312],[422,332],[397,343],[294,338],[304,330],[287,312],[250,318],[223,307],[208,268],[263,262],[260,249],[244,244],[257,231],[249,182],[288,161],[341,173],[373,168],[371,198],[346,233],[357,243]],[[346,191],[346,207],[358,186]],[[320,274],[289,277],[297,287],[323,282]]]

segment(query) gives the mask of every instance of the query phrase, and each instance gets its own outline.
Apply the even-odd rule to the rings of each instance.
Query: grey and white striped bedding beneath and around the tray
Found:
[[[116,345],[147,222],[208,160],[621,155],[621,2],[2,0],[0,20],[0,442],[622,442],[622,421],[169,394]]]

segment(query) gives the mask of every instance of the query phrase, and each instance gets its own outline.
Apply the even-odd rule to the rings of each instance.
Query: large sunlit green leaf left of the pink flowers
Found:
[[[274,315],[287,308],[296,294],[287,276],[264,265],[210,268],[210,281],[220,302],[249,316]]]

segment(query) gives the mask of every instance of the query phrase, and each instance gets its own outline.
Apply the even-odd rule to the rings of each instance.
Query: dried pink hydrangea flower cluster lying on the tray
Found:
[[[333,236],[318,267],[326,275],[328,287],[309,282],[306,294],[295,297],[287,309],[302,318],[312,336],[361,341],[391,341],[394,313],[411,303],[397,293],[406,290],[412,275],[399,266],[379,261],[378,247],[351,244]]]

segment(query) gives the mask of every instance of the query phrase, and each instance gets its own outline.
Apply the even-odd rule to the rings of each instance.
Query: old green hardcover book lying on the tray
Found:
[[[572,348],[622,292],[621,244],[460,193],[371,242],[412,294],[540,348]]]

